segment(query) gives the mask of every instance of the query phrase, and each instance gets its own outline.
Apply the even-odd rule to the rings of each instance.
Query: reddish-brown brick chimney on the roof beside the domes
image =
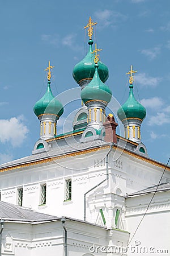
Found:
[[[108,114],[107,121],[103,123],[105,127],[105,142],[113,142],[117,143],[116,137],[116,127],[118,124],[114,120],[114,116],[112,114]]]

